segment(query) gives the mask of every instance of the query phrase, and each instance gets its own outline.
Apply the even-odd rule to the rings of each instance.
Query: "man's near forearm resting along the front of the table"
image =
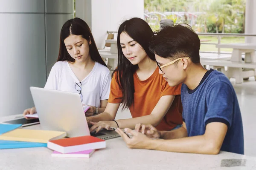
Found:
[[[201,154],[218,154],[220,151],[220,148],[216,147],[213,142],[207,141],[204,135],[171,140],[150,139],[145,148],[169,152]]]

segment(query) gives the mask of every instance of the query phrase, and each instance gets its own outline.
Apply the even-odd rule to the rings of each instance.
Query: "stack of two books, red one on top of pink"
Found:
[[[106,147],[105,140],[93,136],[80,136],[48,141],[53,157],[90,158],[96,149]]]

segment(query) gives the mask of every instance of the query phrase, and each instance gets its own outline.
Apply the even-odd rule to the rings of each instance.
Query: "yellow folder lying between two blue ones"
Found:
[[[64,138],[66,132],[50,130],[15,129],[0,135],[0,140],[47,143],[49,140]]]

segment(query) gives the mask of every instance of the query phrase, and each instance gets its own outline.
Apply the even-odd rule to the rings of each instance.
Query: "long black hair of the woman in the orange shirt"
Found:
[[[118,85],[122,89],[122,105],[123,109],[125,109],[130,107],[134,102],[133,74],[138,69],[138,65],[133,65],[122,52],[120,45],[120,34],[122,32],[125,32],[139,43],[151,60],[155,61],[155,55],[151,53],[148,48],[149,42],[153,36],[153,31],[146,21],[135,17],[130,20],[125,20],[119,26],[117,35],[118,64],[113,75],[116,72]]]

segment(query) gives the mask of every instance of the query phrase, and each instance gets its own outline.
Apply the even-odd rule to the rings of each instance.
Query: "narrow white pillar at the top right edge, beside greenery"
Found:
[[[246,0],[245,33],[256,34],[256,0]],[[246,43],[256,43],[256,37],[246,37]]]

